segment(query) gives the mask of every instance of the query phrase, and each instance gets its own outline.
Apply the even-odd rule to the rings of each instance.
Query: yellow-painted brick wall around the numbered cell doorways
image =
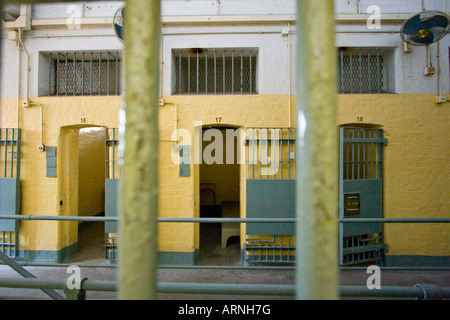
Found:
[[[432,94],[340,95],[338,123],[375,124],[385,130],[384,214],[387,218],[449,217],[448,104],[436,105]],[[176,125],[195,136],[194,121],[203,125],[287,127],[287,96],[168,96],[160,108],[160,216],[196,217],[199,207],[199,167],[191,176],[179,177],[171,161]],[[119,97],[51,97],[33,99],[44,106],[45,144],[57,145],[61,127],[80,124],[118,126]],[[1,100],[0,124],[15,127],[16,99]],[[292,99],[295,106],[295,99]],[[295,122],[295,108],[292,120]],[[58,184],[45,177],[45,153],[37,151],[39,109],[21,110],[22,213],[57,215]],[[175,121],[178,113],[178,121]],[[292,124],[295,126],[295,123]],[[180,142],[181,143],[181,142]],[[181,143],[182,144],[182,143]],[[193,159],[192,159],[193,160]],[[243,165],[241,166],[243,171]],[[245,210],[245,177],[241,175],[241,214]],[[65,231],[61,231],[63,234]],[[21,225],[21,248],[59,250],[57,223],[26,221]],[[243,231],[241,233],[244,234]],[[241,237],[243,239],[243,237]],[[392,255],[450,255],[450,231],[446,225],[387,225],[385,241]],[[70,240],[67,240],[70,242]],[[198,248],[194,224],[162,223],[159,250],[193,252]]]

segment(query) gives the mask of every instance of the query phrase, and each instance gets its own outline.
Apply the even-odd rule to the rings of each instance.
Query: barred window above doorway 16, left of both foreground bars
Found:
[[[121,61],[116,51],[42,53],[39,95],[120,95]]]

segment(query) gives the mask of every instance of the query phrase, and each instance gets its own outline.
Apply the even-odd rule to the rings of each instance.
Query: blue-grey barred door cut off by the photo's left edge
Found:
[[[21,131],[0,128],[0,215],[20,214],[20,144]],[[14,219],[0,219],[0,251],[17,257],[19,224]]]

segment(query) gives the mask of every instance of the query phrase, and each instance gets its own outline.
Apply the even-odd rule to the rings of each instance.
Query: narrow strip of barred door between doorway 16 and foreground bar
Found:
[[[117,217],[119,186],[119,129],[105,129],[105,216]],[[118,252],[117,222],[105,222],[105,259],[116,260]]]

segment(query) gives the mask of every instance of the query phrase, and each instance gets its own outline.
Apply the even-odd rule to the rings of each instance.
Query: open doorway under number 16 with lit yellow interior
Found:
[[[61,128],[57,147],[59,215],[104,216],[105,128]],[[102,222],[61,222],[60,245],[69,248],[67,262],[104,259]]]

